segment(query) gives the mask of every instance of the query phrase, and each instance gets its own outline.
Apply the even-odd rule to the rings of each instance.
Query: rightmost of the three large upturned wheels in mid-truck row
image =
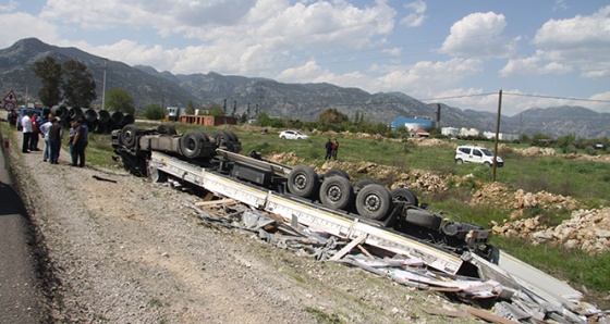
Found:
[[[365,186],[356,196],[356,210],[366,219],[381,221],[391,211],[392,205],[390,191],[381,185]]]

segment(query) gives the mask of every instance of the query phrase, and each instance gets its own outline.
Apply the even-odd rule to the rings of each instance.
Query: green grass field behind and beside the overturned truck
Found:
[[[154,127],[155,125],[138,125]],[[192,129],[202,129],[213,135],[218,129],[196,126],[176,125],[179,134]],[[223,128],[227,129],[227,128]],[[321,166],[325,163],[325,142],[328,135],[310,133],[308,140],[282,140],[278,133],[283,129],[270,129],[263,134],[255,127],[231,127],[242,141],[242,153],[256,150],[263,154],[294,152],[304,164]],[[453,145],[463,144],[448,141],[447,145],[416,146],[407,140],[387,141],[373,138],[358,138],[354,135],[337,135],[340,142],[339,160],[347,162],[368,161],[398,167],[402,172],[413,169],[428,170],[442,174],[466,175],[474,174],[480,182],[491,182],[491,169],[484,165],[456,165],[453,161]],[[491,148],[492,144],[486,144]],[[110,158],[110,136],[91,135],[87,148],[87,159],[90,163],[103,166],[119,167]],[[526,158],[518,154],[502,155],[504,167],[497,169],[496,180],[503,183],[511,189],[524,189],[537,192],[548,191],[571,196],[588,209],[610,205],[610,164],[595,163],[580,160],[569,160],[564,157]],[[472,207],[465,203],[472,195],[472,187],[451,188],[443,195],[417,192],[420,201],[426,201],[435,208],[460,214],[464,221],[489,226],[491,221],[507,219],[508,211],[498,205]],[[532,211],[532,215],[542,211]],[[556,224],[570,216],[570,211],[559,211],[546,215]],[[610,253],[589,256],[581,251],[570,251],[548,246],[533,246],[516,239],[493,238],[493,244],[509,253],[530,263],[532,265],[568,279],[575,287],[586,286],[593,295],[607,297],[610,295]],[[610,300],[606,300],[610,306]],[[603,301],[600,302],[603,306]]]

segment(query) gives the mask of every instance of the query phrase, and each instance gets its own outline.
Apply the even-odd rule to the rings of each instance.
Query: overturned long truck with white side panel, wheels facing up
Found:
[[[493,248],[490,230],[420,205],[407,188],[388,190],[371,179],[354,185],[341,170],[317,174],[307,165],[267,161],[256,151],[241,154],[242,144],[231,132],[178,135],[169,124],[152,129],[132,124],[111,138],[117,160],[134,175],[232,198],[295,226],[366,245],[378,256],[418,259],[456,282],[477,278],[493,289],[486,298],[510,300],[529,319],[585,323],[583,312],[590,313],[581,292]]]

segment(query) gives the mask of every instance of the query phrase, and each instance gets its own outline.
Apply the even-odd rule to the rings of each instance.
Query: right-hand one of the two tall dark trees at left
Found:
[[[97,98],[96,84],[87,65],[75,61],[65,61],[62,65],[63,97],[68,105],[89,107]]]

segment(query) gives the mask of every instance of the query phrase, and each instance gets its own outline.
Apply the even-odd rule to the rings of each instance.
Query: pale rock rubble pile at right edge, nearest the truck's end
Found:
[[[610,208],[576,210],[552,228],[541,224],[540,216],[492,225],[496,234],[529,239],[536,245],[550,244],[589,253],[610,251]]]

